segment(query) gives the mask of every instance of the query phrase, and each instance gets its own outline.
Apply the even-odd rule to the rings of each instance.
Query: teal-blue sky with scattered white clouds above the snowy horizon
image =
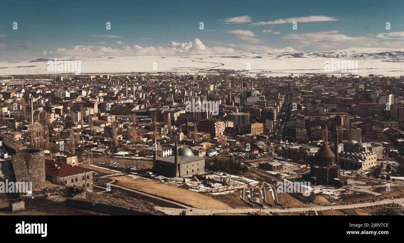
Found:
[[[0,61],[404,49],[402,0],[38,0],[1,9]]]

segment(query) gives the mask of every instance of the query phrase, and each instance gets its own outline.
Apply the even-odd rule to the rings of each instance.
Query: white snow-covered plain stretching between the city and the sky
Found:
[[[310,73],[330,73],[348,75],[345,72],[325,71],[325,61],[358,61],[358,75],[379,74],[385,76],[404,75],[404,49],[349,48],[345,50],[257,54],[246,53],[236,56],[175,56],[175,57],[58,57],[58,61],[81,61],[81,73],[130,73],[130,72],[173,72],[215,73],[209,69],[245,70],[250,66],[249,75],[263,73],[267,76],[300,75]],[[0,75],[13,74],[60,74],[49,72],[48,61],[0,62]],[[157,69],[156,69],[157,67]],[[155,68],[155,69],[154,69]],[[248,74],[247,73],[247,74]]]

